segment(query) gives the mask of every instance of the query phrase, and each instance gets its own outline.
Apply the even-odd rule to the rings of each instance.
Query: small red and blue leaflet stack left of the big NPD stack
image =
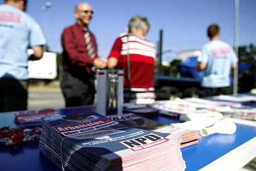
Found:
[[[42,125],[41,118],[49,115],[61,115],[55,109],[38,109],[30,111],[18,111],[14,113],[18,125],[35,127]]]

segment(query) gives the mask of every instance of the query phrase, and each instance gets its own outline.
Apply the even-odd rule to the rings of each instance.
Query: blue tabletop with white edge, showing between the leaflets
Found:
[[[96,107],[70,107],[57,109],[63,115],[87,113]],[[179,119],[163,115],[148,117],[159,123],[178,123]],[[232,135],[214,134],[201,137],[199,144],[181,149],[189,170],[238,170],[256,156],[256,123],[233,119],[236,133]],[[12,112],[0,113],[0,127],[16,127]],[[0,148],[0,168],[4,170],[60,170],[40,153],[38,144],[24,144],[13,148]]]

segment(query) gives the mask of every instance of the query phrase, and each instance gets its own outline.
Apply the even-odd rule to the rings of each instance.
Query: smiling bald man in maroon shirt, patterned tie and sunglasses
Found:
[[[88,30],[92,16],[90,4],[79,3],[75,7],[76,23],[66,27],[61,36],[64,68],[61,89],[66,107],[92,105],[95,94],[92,68],[106,67],[106,60],[98,57],[96,38]]]

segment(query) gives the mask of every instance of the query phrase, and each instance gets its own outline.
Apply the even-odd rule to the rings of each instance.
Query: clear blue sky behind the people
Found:
[[[45,12],[41,8],[51,3]],[[81,0],[29,0],[27,13],[38,21],[52,52],[62,52],[63,29],[75,23],[75,5]],[[162,60],[170,61],[183,50],[199,50],[208,42],[206,30],[220,25],[220,39],[234,46],[234,0],[88,0],[94,10],[89,25],[96,36],[98,54],[107,58],[115,39],[125,32],[133,15],[147,17],[146,35],[156,48],[162,30]],[[4,3],[4,0],[0,0]],[[256,0],[240,0],[238,46],[256,45]]]

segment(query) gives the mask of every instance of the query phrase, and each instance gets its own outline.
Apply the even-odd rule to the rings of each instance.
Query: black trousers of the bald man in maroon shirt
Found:
[[[75,76],[65,70],[61,80],[61,89],[66,107],[93,105],[95,95],[94,76]]]

